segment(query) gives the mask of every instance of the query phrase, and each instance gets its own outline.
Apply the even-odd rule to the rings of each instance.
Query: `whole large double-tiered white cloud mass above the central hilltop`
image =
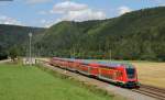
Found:
[[[41,11],[42,12],[42,11]],[[42,12],[43,13],[43,12]],[[45,12],[44,12],[45,13]],[[76,3],[72,1],[64,1],[56,3],[53,9],[47,12],[50,14],[59,14],[61,18],[52,20],[41,20],[41,24],[50,27],[61,21],[88,21],[88,20],[103,20],[107,18],[106,13],[99,10],[92,10],[87,4]]]

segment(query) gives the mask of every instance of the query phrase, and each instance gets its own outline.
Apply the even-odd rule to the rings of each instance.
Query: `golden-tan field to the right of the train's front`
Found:
[[[133,62],[139,73],[140,82],[165,88],[165,63]]]

